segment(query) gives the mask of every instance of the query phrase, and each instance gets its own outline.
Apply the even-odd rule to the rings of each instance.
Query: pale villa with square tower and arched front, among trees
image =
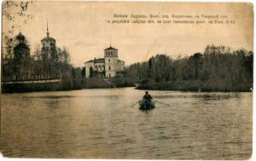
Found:
[[[104,49],[104,58],[89,60],[84,63],[85,78],[123,76],[125,61],[118,59],[118,49],[110,47]]]

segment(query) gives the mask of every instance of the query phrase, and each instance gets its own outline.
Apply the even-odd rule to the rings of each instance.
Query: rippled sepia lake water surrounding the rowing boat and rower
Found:
[[[6,157],[246,159],[252,153],[252,93],[83,89],[2,95]]]

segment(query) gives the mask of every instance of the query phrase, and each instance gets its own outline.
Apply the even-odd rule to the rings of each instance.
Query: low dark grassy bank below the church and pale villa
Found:
[[[129,78],[63,78],[54,83],[3,83],[2,93],[134,87]]]

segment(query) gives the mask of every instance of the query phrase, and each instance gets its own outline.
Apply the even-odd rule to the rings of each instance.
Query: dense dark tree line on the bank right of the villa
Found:
[[[208,45],[204,52],[172,59],[156,55],[126,69],[142,89],[247,91],[253,87],[253,52]]]

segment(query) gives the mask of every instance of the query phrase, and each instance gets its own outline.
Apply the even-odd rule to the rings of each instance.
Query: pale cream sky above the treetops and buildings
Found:
[[[9,10],[9,12],[14,12]],[[109,2],[33,2],[26,14],[31,20],[17,17],[15,29],[26,36],[33,54],[36,45],[49,36],[56,46],[66,47],[73,66],[104,56],[111,45],[119,49],[125,65],[148,60],[158,54],[188,56],[203,52],[207,45],[225,45],[232,49],[253,50],[253,5],[250,3],[109,3]],[[113,14],[227,15],[235,24],[108,24]],[[161,19],[163,20],[163,19]],[[173,19],[172,19],[173,20]],[[208,20],[208,19],[200,19]],[[3,32],[12,22],[3,17]]]

